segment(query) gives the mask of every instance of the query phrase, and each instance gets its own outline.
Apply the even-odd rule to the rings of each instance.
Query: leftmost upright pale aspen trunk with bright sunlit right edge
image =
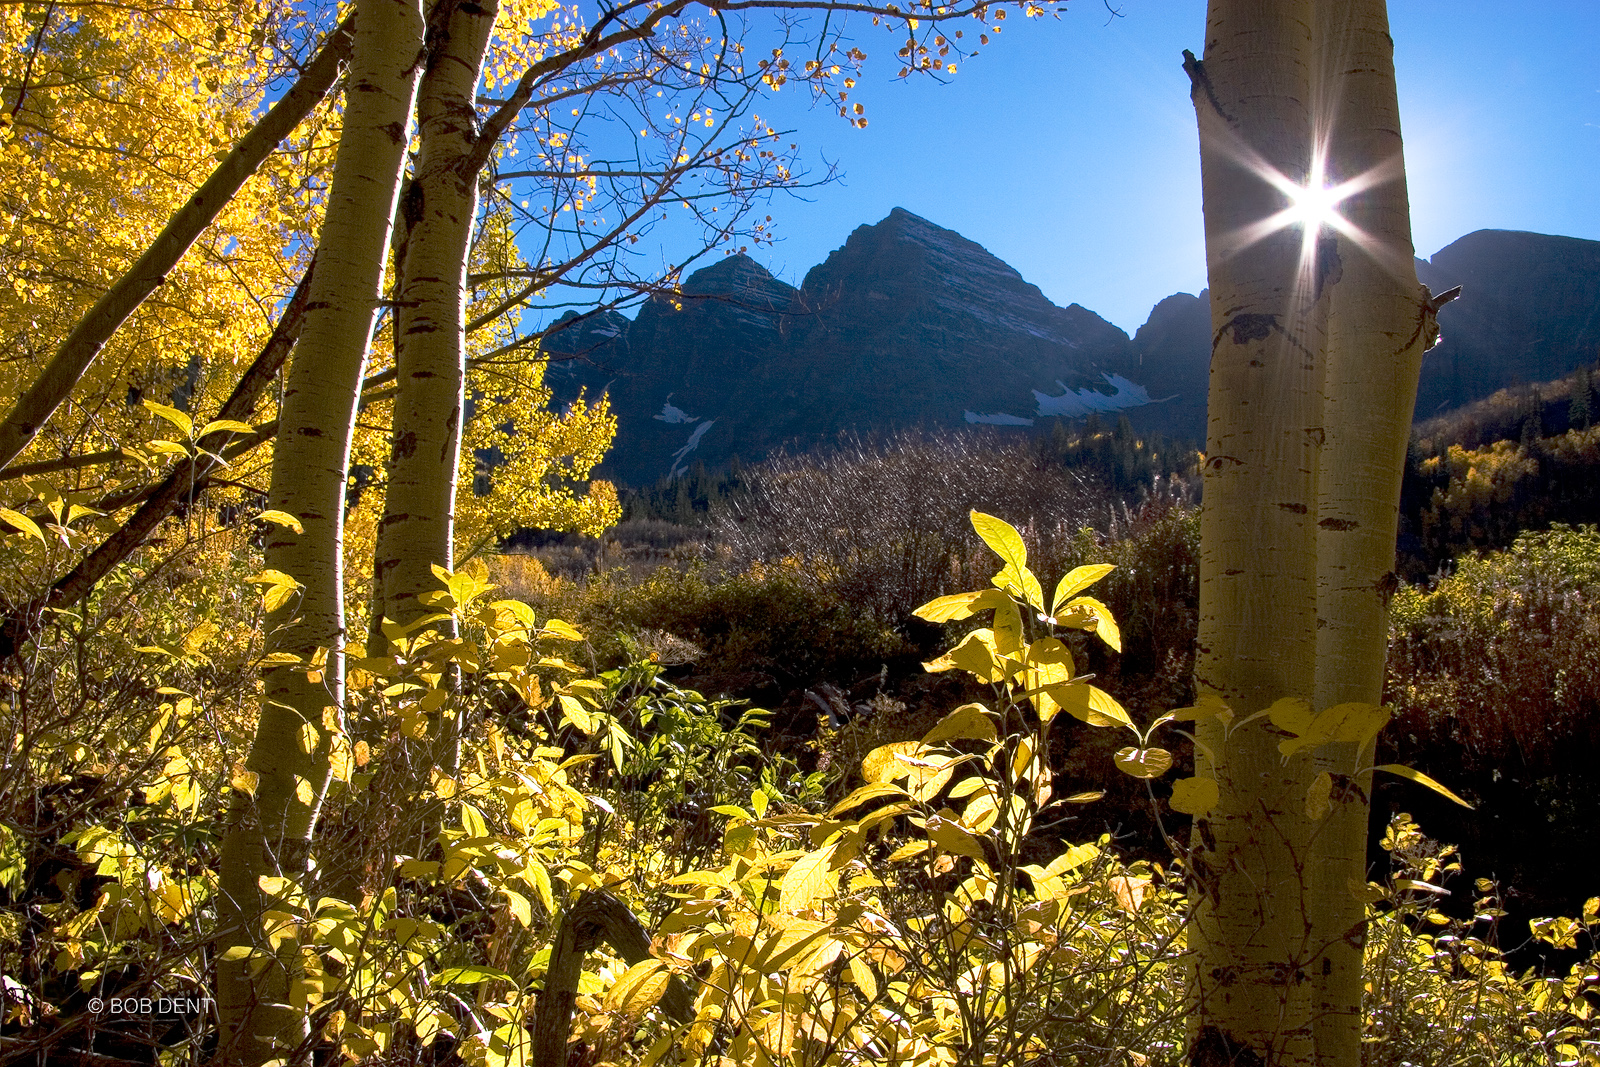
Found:
[[[264,912],[293,912],[294,905],[262,878],[306,883],[314,865],[312,827],[331,777],[330,725],[338,723],[344,701],[341,555],[350,434],[382,293],[422,43],[418,0],[357,0],[344,130],[272,459],[270,506],[298,517],[302,531],[275,526],[266,549],[267,568],[301,585],[267,614],[267,651],[323,661],[315,672],[266,669],[261,721],[246,760],[258,781],[253,795],[234,795],[222,845],[218,965],[219,1056],[227,1062],[307,1054],[307,1009],[296,982],[299,945],[290,931],[269,949],[262,933]],[[237,958],[243,949],[259,955]]]

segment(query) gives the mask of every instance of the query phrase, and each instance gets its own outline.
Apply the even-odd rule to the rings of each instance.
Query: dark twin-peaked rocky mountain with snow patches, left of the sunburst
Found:
[[[602,474],[629,485],[846,429],[1032,426],[1149,403],[1128,334],[899,208],[798,290],[730,256],[626,330],[571,322],[546,344],[579,355],[552,363],[552,389],[610,389],[618,443]]]

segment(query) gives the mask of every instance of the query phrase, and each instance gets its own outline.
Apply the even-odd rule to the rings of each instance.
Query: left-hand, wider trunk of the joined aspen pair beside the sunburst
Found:
[[[1190,851],[1194,1067],[1314,1062],[1309,760],[1285,765],[1264,717],[1242,723],[1315,685],[1322,286],[1301,230],[1261,226],[1286,206],[1262,170],[1310,170],[1312,14],[1211,0],[1205,61],[1187,58],[1213,322],[1195,688],[1238,726],[1197,733],[1219,801]]]

